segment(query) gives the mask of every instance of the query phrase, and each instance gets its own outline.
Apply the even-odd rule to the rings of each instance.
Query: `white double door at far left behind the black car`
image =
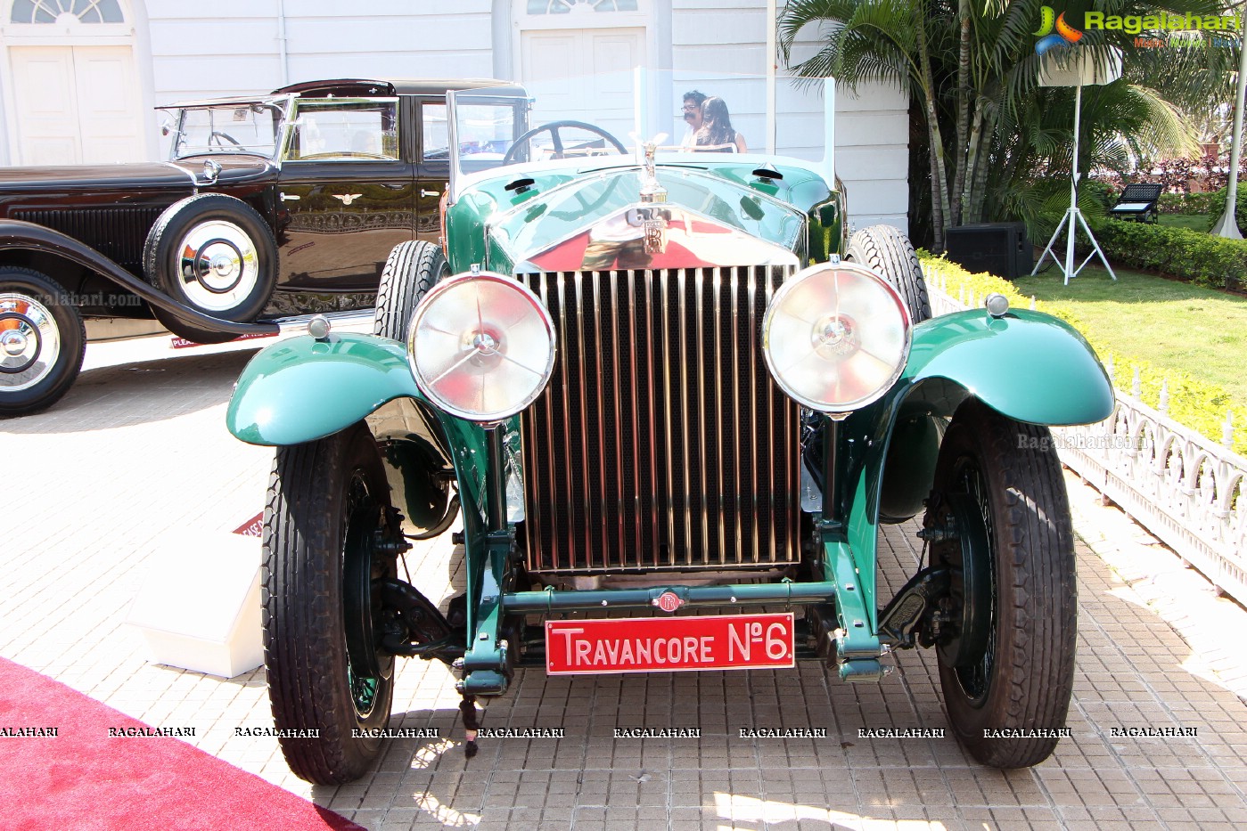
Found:
[[[17,163],[137,162],[145,157],[128,46],[14,46]]]

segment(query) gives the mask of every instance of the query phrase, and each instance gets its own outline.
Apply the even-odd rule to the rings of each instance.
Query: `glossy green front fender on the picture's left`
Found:
[[[403,344],[373,335],[303,335],[251,359],[226,424],[252,445],[298,445],[333,435],[400,396],[424,400]]]

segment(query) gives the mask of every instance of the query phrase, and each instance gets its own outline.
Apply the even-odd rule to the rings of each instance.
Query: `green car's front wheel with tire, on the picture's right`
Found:
[[[954,529],[930,546],[953,574],[936,640],[953,731],[985,765],[1038,765],[1065,726],[1077,635],[1074,531],[1047,427],[964,402],[924,526]]]

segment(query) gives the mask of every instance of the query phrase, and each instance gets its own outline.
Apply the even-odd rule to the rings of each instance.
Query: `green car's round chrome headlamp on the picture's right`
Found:
[[[762,353],[789,397],[849,412],[897,382],[909,356],[909,310],[883,278],[854,263],[819,263],[791,277],[762,321]]]

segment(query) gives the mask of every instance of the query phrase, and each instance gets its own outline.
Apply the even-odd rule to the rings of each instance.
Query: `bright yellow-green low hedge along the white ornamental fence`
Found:
[[[1114,224],[1155,229],[1155,226],[1142,226],[1132,222],[1115,222]],[[1182,229],[1162,228],[1161,230]],[[1196,237],[1200,235],[1188,230],[1182,230],[1182,233]],[[1104,244],[1102,238],[1100,244]],[[935,257],[925,250],[919,250],[918,257],[923,260],[925,269],[934,267],[939,270],[939,274],[946,280],[949,294],[954,298],[958,297],[958,293],[963,289],[965,290],[968,298],[971,293],[983,298],[990,292],[999,292],[1009,298],[1010,305],[1023,309],[1030,308],[1030,298],[1024,297],[1020,292],[1018,292],[1013,283],[1004,278],[988,273],[970,274],[956,263],[951,263],[941,257]],[[1233,412],[1235,425],[1233,450],[1237,453],[1247,456],[1247,430],[1245,430],[1245,427],[1247,427],[1247,407],[1233,406],[1231,404],[1230,394],[1225,390],[1225,387],[1216,384],[1208,384],[1191,375],[1160,369],[1151,361],[1112,349],[1104,341],[1100,341],[1095,336],[1090,335],[1087,333],[1086,324],[1079,320],[1076,315],[1052,308],[1049,303],[1036,303],[1035,308],[1039,311],[1046,311],[1047,314],[1069,323],[1071,326],[1081,331],[1084,336],[1086,336],[1086,339],[1091,343],[1091,346],[1095,348],[1095,351],[1100,356],[1101,361],[1107,364],[1111,360],[1114,365],[1114,381],[1119,390],[1130,390],[1134,384],[1134,373],[1137,368],[1141,386],[1140,397],[1143,404],[1151,407],[1158,407],[1161,382],[1167,380],[1170,394],[1170,416],[1178,424],[1186,425],[1187,427],[1197,431],[1205,439],[1208,439],[1217,445],[1221,444],[1221,426],[1226,421],[1226,411],[1231,410]]]

